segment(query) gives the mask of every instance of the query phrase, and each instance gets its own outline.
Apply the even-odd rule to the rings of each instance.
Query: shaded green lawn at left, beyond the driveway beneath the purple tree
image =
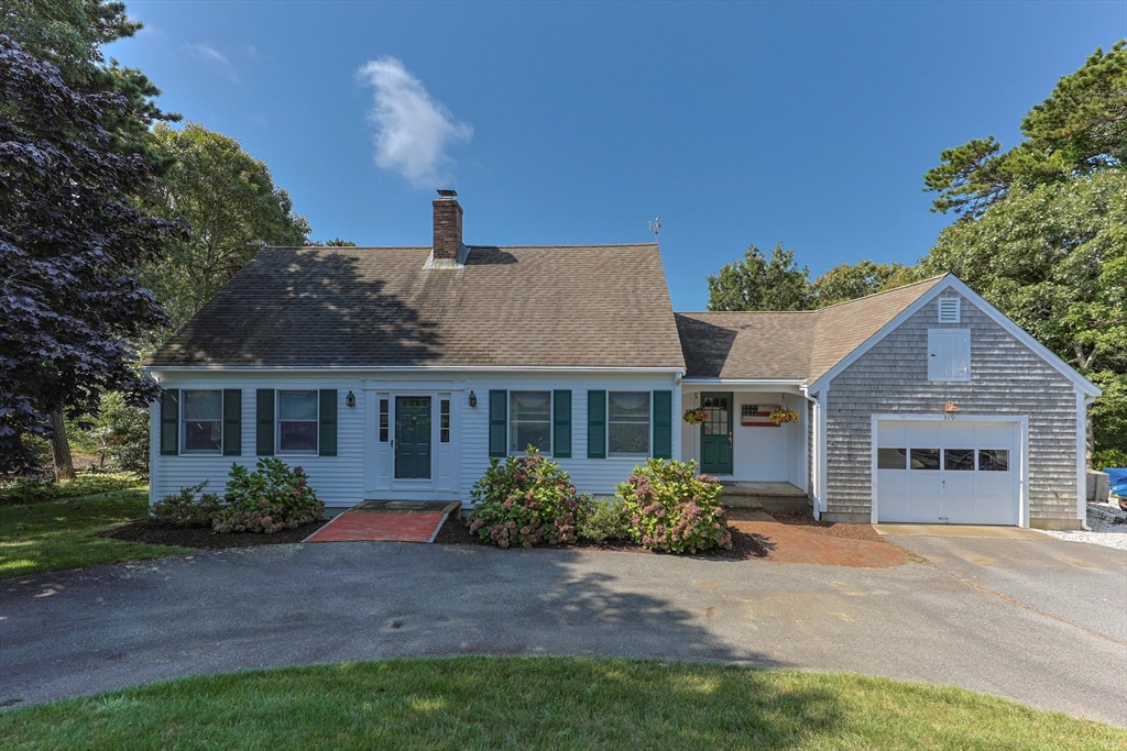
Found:
[[[144,516],[148,503],[145,490],[119,490],[44,503],[0,506],[0,579],[190,553],[185,547],[91,536],[114,522]]]

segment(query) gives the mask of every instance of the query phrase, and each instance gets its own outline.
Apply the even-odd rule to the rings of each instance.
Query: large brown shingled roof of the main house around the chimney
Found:
[[[264,249],[147,365],[684,367],[656,244],[429,253]]]

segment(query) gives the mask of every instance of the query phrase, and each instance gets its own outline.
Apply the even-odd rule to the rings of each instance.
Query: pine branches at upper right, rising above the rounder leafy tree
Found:
[[[940,154],[924,176],[938,193],[932,211],[982,216],[1011,189],[1032,188],[1121,168],[1127,160],[1127,47],[1097,50],[1080,70],[1059,80],[1021,123],[1026,137],[1003,152],[994,136],[974,138]]]

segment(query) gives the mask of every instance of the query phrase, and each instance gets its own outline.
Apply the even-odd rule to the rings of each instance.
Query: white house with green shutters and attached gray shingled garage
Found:
[[[675,314],[656,244],[465,245],[440,194],[432,247],[267,248],[157,350],[153,500],[279,456],[329,507],[469,504],[490,457],[534,445],[596,495],[694,458],[829,520],[1084,519],[1099,391],[953,276]]]

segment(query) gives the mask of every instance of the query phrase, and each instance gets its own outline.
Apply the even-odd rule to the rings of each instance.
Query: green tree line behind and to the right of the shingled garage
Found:
[[[915,266],[843,263],[813,281],[780,243],[708,277],[709,310],[798,311],[951,272],[1103,390],[1090,459],[1127,466],[1127,47],[1097,50],[1021,122],[1023,140],[948,149],[924,177],[956,221]]]

